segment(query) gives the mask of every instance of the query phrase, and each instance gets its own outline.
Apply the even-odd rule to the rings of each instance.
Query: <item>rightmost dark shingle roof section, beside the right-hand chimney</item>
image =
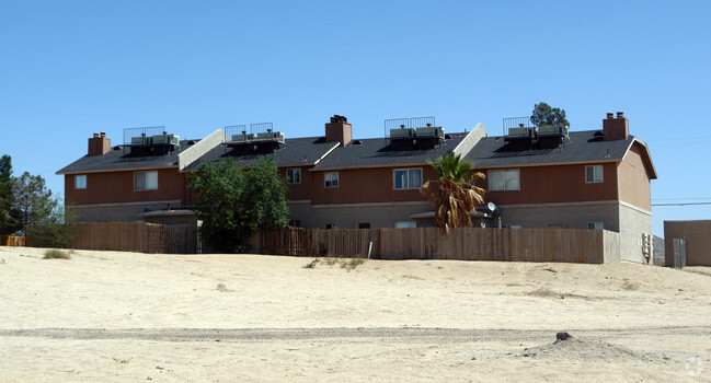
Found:
[[[597,135],[596,135],[597,134]],[[634,137],[604,141],[600,130],[571,131],[560,148],[511,150],[503,137],[485,137],[465,158],[477,167],[621,161]]]

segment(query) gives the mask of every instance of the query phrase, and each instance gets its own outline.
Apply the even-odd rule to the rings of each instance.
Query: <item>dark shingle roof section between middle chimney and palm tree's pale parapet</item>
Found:
[[[385,138],[353,140],[345,147],[336,149],[314,170],[423,164],[427,160],[435,161],[451,152],[467,134],[447,136],[450,138],[445,139],[444,143],[426,150],[391,150],[389,140]]]

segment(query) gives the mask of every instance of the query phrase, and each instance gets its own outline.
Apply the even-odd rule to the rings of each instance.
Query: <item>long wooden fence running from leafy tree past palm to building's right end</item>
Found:
[[[261,233],[262,253],[367,256],[381,259],[567,262],[619,260],[619,234],[584,229],[438,228],[319,230],[285,228]]]

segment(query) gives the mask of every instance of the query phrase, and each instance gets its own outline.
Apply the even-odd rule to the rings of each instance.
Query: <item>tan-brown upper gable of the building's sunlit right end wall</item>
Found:
[[[650,176],[642,159],[640,144],[632,146],[620,163],[620,200],[645,210],[652,210]]]

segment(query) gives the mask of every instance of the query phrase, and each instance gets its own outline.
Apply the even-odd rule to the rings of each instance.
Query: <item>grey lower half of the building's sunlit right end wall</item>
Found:
[[[652,263],[644,257],[642,234],[652,233],[652,213],[631,205],[620,204],[620,259],[638,264]]]

